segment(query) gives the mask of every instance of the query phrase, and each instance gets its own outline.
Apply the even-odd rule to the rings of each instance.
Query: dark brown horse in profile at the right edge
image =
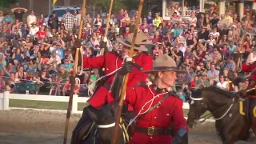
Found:
[[[254,112],[250,106],[254,106]],[[187,125],[196,126],[207,110],[215,119],[215,128],[223,144],[246,141],[250,134],[256,134],[256,99],[249,102],[247,98],[214,86],[192,90]],[[206,120],[206,117],[209,118],[209,114],[202,118]]]

